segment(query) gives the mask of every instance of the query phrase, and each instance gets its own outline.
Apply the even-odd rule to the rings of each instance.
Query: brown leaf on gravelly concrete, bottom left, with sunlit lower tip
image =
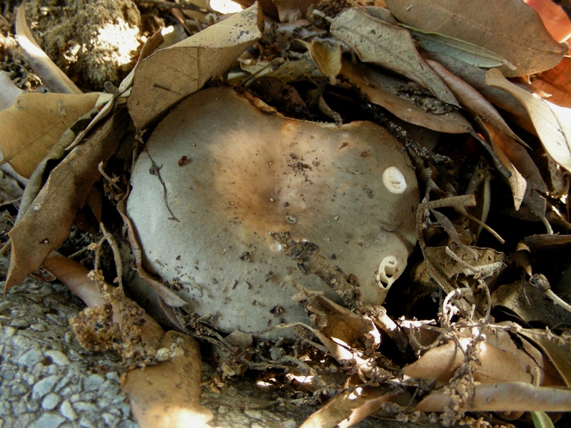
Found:
[[[131,370],[123,384],[139,427],[205,426],[213,415],[199,404],[202,369],[198,342],[171,330],[158,347],[174,350],[175,356],[158,365]]]

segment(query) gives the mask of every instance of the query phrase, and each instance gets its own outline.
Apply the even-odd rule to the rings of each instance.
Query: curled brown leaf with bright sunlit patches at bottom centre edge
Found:
[[[313,413],[300,428],[348,428],[380,409],[385,402],[402,394],[388,385],[355,387],[330,399]]]

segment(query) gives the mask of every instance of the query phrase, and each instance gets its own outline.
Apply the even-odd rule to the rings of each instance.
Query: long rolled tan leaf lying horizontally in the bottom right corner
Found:
[[[463,392],[472,397],[468,410],[473,412],[570,412],[571,389],[534,387],[523,382],[471,384]],[[438,391],[423,399],[420,412],[443,412],[450,395]]]

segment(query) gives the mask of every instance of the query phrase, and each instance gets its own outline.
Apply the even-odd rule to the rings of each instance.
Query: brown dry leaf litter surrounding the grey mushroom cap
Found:
[[[523,419],[507,422],[501,413],[518,411],[534,411],[534,417],[535,412],[554,412],[550,416],[556,425],[562,418],[561,426],[565,426],[565,412],[571,410],[570,313],[564,306],[554,306],[545,293],[552,288],[559,292],[571,260],[565,252],[547,250],[552,248],[545,246],[549,238],[542,238],[556,238],[549,235],[555,231],[565,240],[571,226],[567,201],[571,171],[567,126],[571,119],[568,90],[561,83],[568,67],[563,61],[554,68],[562,58],[563,46],[546,36],[535,12],[531,14],[523,4],[510,4],[510,16],[518,17],[511,28],[495,19],[499,14],[494,2],[478,1],[463,10],[453,9],[453,4],[444,0],[417,1],[407,9],[403,4],[387,3],[396,20],[386,9],[356,4],[282,1],[273,10],[275,6],[256,4],[180,44],[142,54],[131,76],[119,88],[111,88],[113,96],[103,107],[104,113],[83,132],[78,128],[91,119],[75,126],[74,122],[93,108],[98,94],[70,95],[81,103],[89,97],[89,103],[65,123],[60,122],[60,106],[67,106],[62,104],[62,95],[47,94],[57,100],[59,118],[50,116],[54,107],[35,103],[31,116],[14,116],[9,121],[11,127],[4,127],[7,135],[16,138],[26,128],[24,123],[40,117],[46,129],[55,129],[42,148],[34,146],[38,138],[31,135],[18,137],[13,146],[6,139],[0,143],[4,161],[23,175],[32,175],[35,183],[26,188],[28,202],[9,234],[11,265],[5,292],[42,264],[76,292],[88,308],[72,321],[74,330],[84,346],[115,349],[123,355],[126,369],[133,369],[126,374],[124,389],[141,426],[172,424],[181,417],[174,411],[176,407],[186,409],[196,426],[211,419],[198,404],[200,358],[191,336],[218,350],[221,378],[249,369],[257,371],[261,379],[266,370],[281,370],[283,379],[313,379],[305,382],[305,402],[327,404],[303,427],[349,427],[372,414],[403,423],[518,427],[525,424]],[[284,21],[273,22],[273,32],[266,37],[263,12]],[[426,19],[428,14],[433,19]],[[23,22],[21,16],[19,22]],[[486,16],[490,18],[485,24],[486,36],[475,37],[478,20]],[[522,16],[525,18],[520,20]],[[293,34],[275,38],[280,26],[292,25],[285,21],[298,18],[305,20],[294,22],[293,28],[322,26],[305,40],[310,56],[295,48]],[[423,22],[419,23],[420,18]],[[407,26],[400,26],[399,21]],[[429,23],[430,28],[423,23]],[[454,39],[456,53],[448,49],[446,55],[428,54],[430,59],[423,59],[409,26]],[[21,31],[26,43],[33,45],[31,33]],[[513,41],[513,34],[521,37]],[[458,54],[466,50],[462,47],[466,44],[477,46],[480,56],[490,51],[496,61],[505,58],[507,66],[486,73],[477,66],[500,64],[477,63]],[[149,50],[157,45],[149,44]],[[256,48],[254,56],[252,50],[245,53],[251,46]],[[522,49],[535,54],[522,53]],[[238,57],[260,64],[258,71],[269,66],[270,73],[262,78],[248,73],[248,67],[236,68]],[[46,79],[61,76],[45,56],[39,58],[44,58],[39,60],[44,62],[39,68],[49,72],[37,73],[44,73]],[[276,59],[280,61],[272,62]],[[314,66],[308,67],[307,61],[314,61]],[[555,103],[504,77],[540,71],[543,73],[534,84],[555,93]],[[121,175],[131,167],[133,148],[137,153],[144,151],[146,131],[178,101],[208,85],[231,85],[239,91],[251,86],[256,96],[273,100],[268,101],[273,107],[263,107],[268,114],[281,110],[281,93],[289,103],[284,110],[299,118],[337,124],[365,119],[380,123],[400,138],[423,188],[416,213],[419,245],[411,256],[409,279],[395,282],[385,305],[363,305],[358,294],[356,304],[345,296],[341,305],[312,294],[304,287],[303,277],[290,278],[290,286],[300,290],[298,304],[304,305],[311,320],[311,325],[291,326],[298,333],[297,342],[271,344],[243,332],[226,336],[212,330],[207,319],[193,317],[187,307],[182,311],[183,302],[172,291],[176,280],[161,281],[144,271],[133,225],[119,203],[116,218],[121,218],[119,213],[123,216],[131,231],[132,251],[139,253],[136,265],[153,285],[151,293],[158,296],[158,315],[153,315],[167,325],[171,320],[187,334],[165,333],[123,294],[126,276],[121,272],[126,260],[121,261],[125,255],[115,242],[122,239],[121,230],[111,227],[112,222],[105,225],[108,220],[98,217],[98,227],[110,249],[101,245],[91,248],[96,253],[91,272],[54,253],[69,236],[91,188],[103,188],[106,198],[114,201],[108,208],[124,201],[128,178]],[[35,95],[23,96],[31,100]],[[12,107],[15,111],[22,111],[19,99]],[[130,127],[131,121],[134,126]],[[423,140],[430,141],[423,146],[415,138],[426,129],[440,137]],[[489,148],[482,148],[480,140]],[[46,156],[58,141],[52,153],[59,154]],[[25,167],[19,166],[19,157],[24,158]],[[550,163],[545,162],[548,157]],[[181,168],[192,165],[191,157],[182,159]],[[120,164],[123,169],[117,167]],[[156,165],[155,173],[161,168]],[[299,168],[305,168],[303,163]],[[554,193],[557,177],[563,179]],[[164,188],[168,190],[168,183]],[[369,198],[374,200],[374,195]],[[545,229],[548,235],[541,235]],[[527,261],[522,262],[515,257],[517,252],[512,252],[524,241],[532,243],[526,254],[533,257],[525,256]],[[106,266],[101,270],[98,260],[106,252],[113,255],[115,269]],[[323,269],[333,272],[335,267]],[[354,283],[350,275],[342,273],[335,277]],[[111,275],[112,280],[106,282],[104,275]],[[278,305],[275,310],[279,312]],[[105,335],[94,335],[98,323],[108,326]],[[141,325],[153,327],[141,330]],[[133,368],[146,365],[151,367]],[[173,385],[183,394],[171,394]],[[303,390],[303,386],[301,382],[297,388]],[[156,396],[168,398],[156,405]],[[173,402],[174,396],[180,401]],[[144,401],[148,398],[151,400]],[[163,412],[165,407],[174,410]]]

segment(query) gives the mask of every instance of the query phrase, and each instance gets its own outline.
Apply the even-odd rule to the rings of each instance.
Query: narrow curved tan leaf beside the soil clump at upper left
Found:
[[[30,61],[31,68],[41,78],[41,81],[50,91],[58,93],[82,93],[74,82],[72,82],[58,66],[51,61],[49,56],[41,50],[34,40],[28,24],[26,23],[26,8],[22,4],[16,14],[16,38],[24,51],[26,58]]]

